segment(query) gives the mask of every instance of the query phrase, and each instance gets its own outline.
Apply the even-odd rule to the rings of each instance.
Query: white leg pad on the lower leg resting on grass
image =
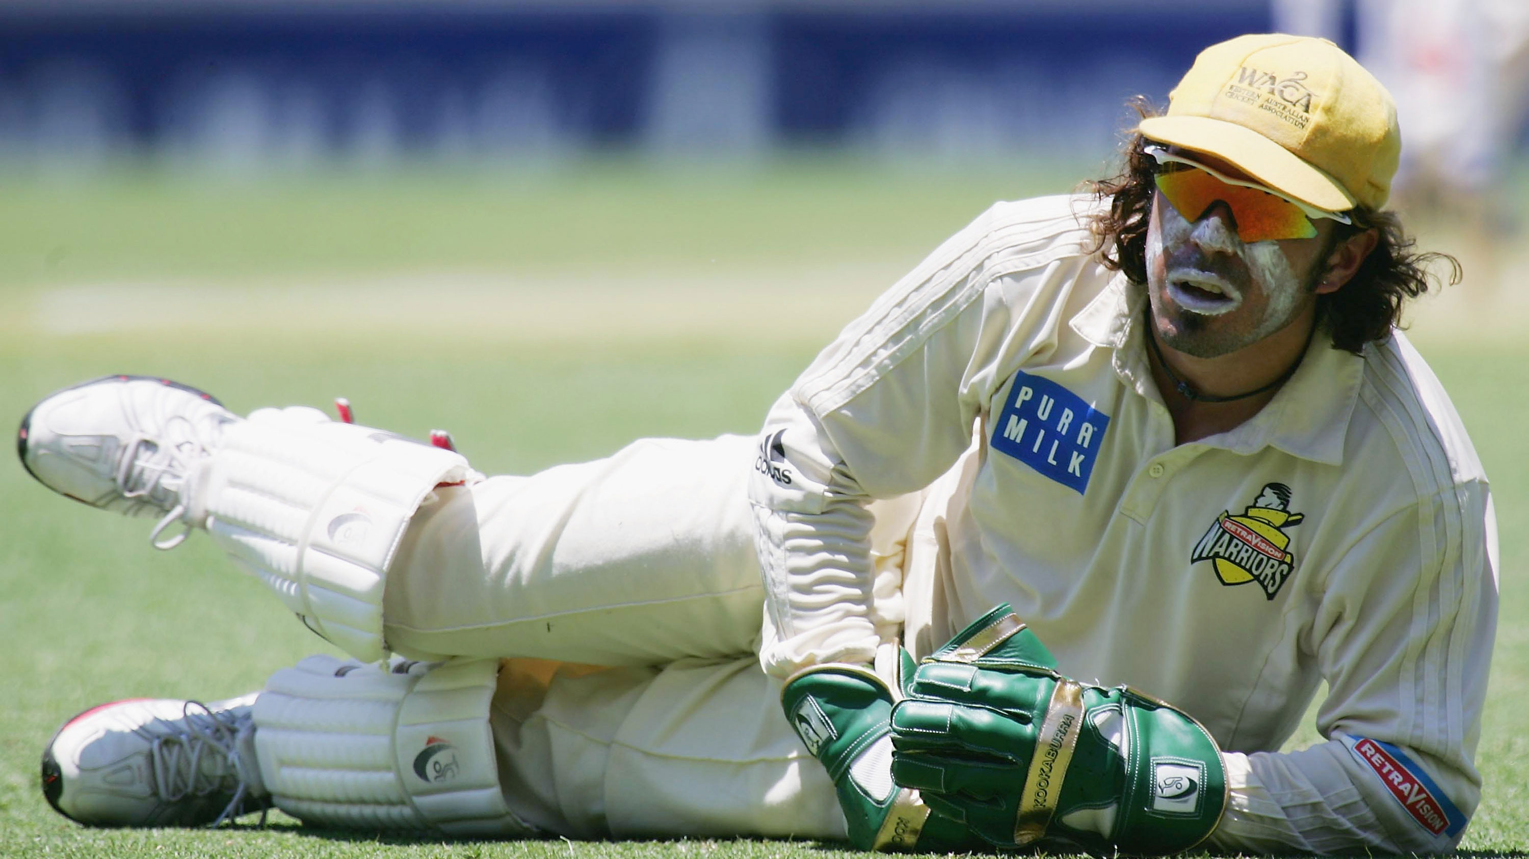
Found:
[[[255,755],[278,809],[309,824],[524,836],[489,729],[497,659],[388,666],[310,656],[255,699]]]

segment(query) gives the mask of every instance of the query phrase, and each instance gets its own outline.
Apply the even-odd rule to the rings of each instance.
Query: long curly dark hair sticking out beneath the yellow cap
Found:
[[[1133,98],[1130,105],[1144,118],[1156,113],[1142,96]],[[1125,272],[1133,283],[1147,283],[1147,222],[1156,190],[1157,162],[1147,154],[1145,145],[1147,139],[1133,133],[1124,147],[1124,170],[1110,179],[1084,183],[1095,197],[1110,202],[1089,225],[1093,252],[1105,267]],[[1353,223],[1338,225],[1323,258],[1339,241],[1365,229],[1379,232],[1381,240],[1342,289],[1316,297],[1316,319],[1327,329],[1335,348],[1358,355],[1364,344],[1384,341],[1401,327],[1407,300],[1428,292],[1436,280],[1430,266],[1446,264],[1453,286],[1460,283],[1460,261],[1448,254],[1414,251],[1416,241],[1402,231],[1393,212],[1356,208],[1346,214]]]

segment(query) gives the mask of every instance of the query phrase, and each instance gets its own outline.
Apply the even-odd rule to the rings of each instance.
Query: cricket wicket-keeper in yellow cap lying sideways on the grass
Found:
[[[1399,145],[1330,43],[1212,46],[1119,177],[979,217],[757,439],[485,478],[307,408],[54,394],[38,480],[206,530],[355,660],[87,711],[43,790],[98,825],[1448,850],[1495,532],[1394,332]],[[1278,752],[1323,680],[1326,741]]]

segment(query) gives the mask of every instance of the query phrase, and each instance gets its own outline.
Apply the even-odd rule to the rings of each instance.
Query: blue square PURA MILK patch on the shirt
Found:
[[[1081,495],[1109,425],[1110,416],[1078,394],[1021,371],[992,428],[992,446]]]

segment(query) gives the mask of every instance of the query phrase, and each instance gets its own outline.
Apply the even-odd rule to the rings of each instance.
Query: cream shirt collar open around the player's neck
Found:
[[[1086,341],[1113,350],[1112,364],[1127,387],[1161,400],[1142,339],[1144,301],[1145,295],[1116,272],[1099,295],[1069,321],[1069,327]],[[1269,405],[1235,430],[1197,443],[1238,454],[1269,446],[1304,460],[1342,465],[1344,440],[1359,402],[1362,378],[1364,359],[1333,348],[1332,339],[1318,332],[1306,347],[1300,368]]]

